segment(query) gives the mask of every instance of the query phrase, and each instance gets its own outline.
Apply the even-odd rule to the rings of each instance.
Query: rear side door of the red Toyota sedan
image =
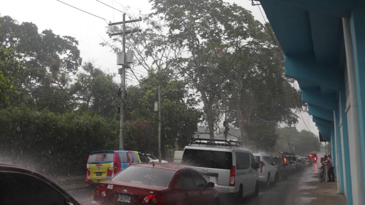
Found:
[[[198,196],[191,171],[181,172],[180,178],[182,183],[181,187],[183,187],[183,205],[196,204],[198,202],[196,200]]]

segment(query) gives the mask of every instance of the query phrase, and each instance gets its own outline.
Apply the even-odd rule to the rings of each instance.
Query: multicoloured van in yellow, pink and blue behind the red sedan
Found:
[[[149,160],[137,151],[97,151],[89,154],[85,182],[99,183],[111,179],[120,170],[136,163],[149,163]]]

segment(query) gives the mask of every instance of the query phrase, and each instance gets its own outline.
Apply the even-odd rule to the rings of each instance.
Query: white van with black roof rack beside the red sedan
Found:
[[[193,138],[181,164],[199,171],[220,194],[258,195],[260,165],[251,152],[243,150],[242,142]]]

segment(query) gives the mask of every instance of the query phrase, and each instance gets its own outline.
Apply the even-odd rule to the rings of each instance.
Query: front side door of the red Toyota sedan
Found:
[[[195,189],[198,193],[198,201],[196,201],[196,203],[199,203],[201,205],[214,204],[213,192],[211,192],[207,188],[208,182],[205,181],[204,177],[201,176],[197,171],[192,171],[191,173],[193,175]]]

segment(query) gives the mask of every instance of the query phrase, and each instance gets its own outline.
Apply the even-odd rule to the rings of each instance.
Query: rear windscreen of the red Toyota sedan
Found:
[[[129,166],[115,175],[111,181],[167,187],[174,173],[174,170],[168,169]]]

